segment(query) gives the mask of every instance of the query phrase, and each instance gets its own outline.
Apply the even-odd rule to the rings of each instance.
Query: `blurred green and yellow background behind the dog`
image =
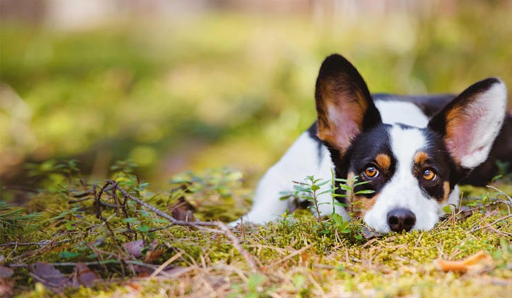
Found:
[[[512,86],[512,1],[1,1],[0,177],[131,158],[158,187],[230,166],[249,185],[315,118],[345,55],[372,92]]]

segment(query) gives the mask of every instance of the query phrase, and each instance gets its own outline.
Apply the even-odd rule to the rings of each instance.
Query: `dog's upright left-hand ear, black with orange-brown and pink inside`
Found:
[[[363,130],[381,123],[368,87],[356,68],[332,54],[316,79],[318,137],[341,154]]]

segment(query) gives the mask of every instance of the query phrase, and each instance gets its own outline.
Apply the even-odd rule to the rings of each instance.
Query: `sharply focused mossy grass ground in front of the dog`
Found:
[[[241,206],[225,213],[225,219],[233,219],[247,208],[237,172],[184,173],[173,182],[185,188],[155,194],[133,175],[133,166],[117,163],[112,178],[131,195],[175,217],[180,216],[175,203],[183,206],[180,198],[203,220]],[[32,194],[19,215],[39,212],[37,221],[6,226],[2,234],[6,245],[0,255],[3,266],[15,269],[10,279],[16,281],[19,297],[495,297],[512,288],[510,201],[493,189],[477,201],[464,200],[471,210],[454,211],[428,232],[375,237],[363,233],[360,220],[352,221],[346,232],[329,224],[331,219],[319,222],[311,212],[297,210],[274,224],[234,230],[238,248],[219,230],[168,226],[145,205],[123,203],[122,193],[115,190],[106,190],[98,207],[91,190],[97,194],[99,186],[86,183],[73,163],[54,163],[52,175],[41,175],[46,186],[59,181],[59,189]],[[216,206],[201,204],[205,197],[216,200]],[[20,217],[19,222],[29,219]],[[240,249],[249,252],[255,268]],[[480,251],[491,261],[467,272],[444,272],[434,263]],[[30,267],[36,261],[53,264],[69,279],[82,275],[84,270],[77,271],[82,262],[85,272],[94,272],[95,282],[52,288],[48,273]],[[158,275],[148,277],[155,270]]]

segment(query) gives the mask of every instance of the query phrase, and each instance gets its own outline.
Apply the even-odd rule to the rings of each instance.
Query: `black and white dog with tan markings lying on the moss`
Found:
[[[374,192],[353,201],[359,202],[354,215],[370,228],[430,230],[444,206],[457,205],[457,183],[486,161],[505,119],[506,88],[489,78],[457,97],[372,96],[356,68],[333,54],[322,63],[315,99],[317,121],[261,179],[243,221],[277,219],[290,205],[279,194],[292,189],[292,181],[330,179],[334,170],[336,178],[369,181],[354,192]],[[320,212],[330,215],[332,205],[321,204]],[[342,207],[336,212],[349,218]]]

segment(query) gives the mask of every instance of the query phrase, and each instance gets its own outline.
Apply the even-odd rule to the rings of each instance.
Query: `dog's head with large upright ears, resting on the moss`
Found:
[[[369,181],[354,192],[354,213],[380,232],[430,230],[456,184],[484,162],[504,119],[506,88],[479,81],[426,127],[387,124],[361,75],[334,54],[316,81],[318,137],[330,148],[338,178]],[[453,203],[453,202],[451,202]]]

